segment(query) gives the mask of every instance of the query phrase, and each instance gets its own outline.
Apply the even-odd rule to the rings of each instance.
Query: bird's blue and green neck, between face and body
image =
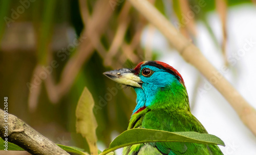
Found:
[[[180,83],[172,83],[161,88],[154,85],[145,86],[143,89],[135,88],[135,92],[137,94],[137,106],[133,115],[145,108],[190,111],[186,87]]]

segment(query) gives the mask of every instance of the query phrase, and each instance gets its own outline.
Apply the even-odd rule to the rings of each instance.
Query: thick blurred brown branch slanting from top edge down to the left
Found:
[[[100,35],[105,30],[105,25],[108,24],[108,20],[110,19],[113,11],[111,11],[110,6],[102,8],[106,6],[108,2],[97,1],[93,9],[94,12],[92,13],[92,16],[90,16],[86,2],[81,0],[79,1],[79,4],[83,24],[87,26],[80,35],[80,39],[83,39],[83,41],[78,46],[74,56],[69,59],[63,68],[59,83],[54,84],[49,82],[50,79],[47,79],[45,83],[46,87],[50,87],[52,90],[56,91],[56,102],[70,90],[82,65],[90,59],[94,49],[98,50],[101,57],[105,56],[105,49],[99,40]],[[49,76],[52,75],[50,74]],[[52,93],[49,92],[50,88],[47,89],[49,96],[52,95]]]

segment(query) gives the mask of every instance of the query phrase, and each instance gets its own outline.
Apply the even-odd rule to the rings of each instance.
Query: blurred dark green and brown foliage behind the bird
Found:
[[[176,27],[195,44],[195,22],[202,21],[224,58],[226,8],[253,2],[151,1],[166,18],[179,23]],[[207,5],[195,13],[193,6],[200,3]],[[195,16],[186,21],[183,15],[189,11]],[[210,11],[217,11],[222,21],[221,43],[206,20]],[[88,151],[86,141],[75,133],[75,108],[86,86],[96,104],[99,141],[108,146],[113,131],[126,130],[136,94],[124,86],[118,89],[102,73],[135,67],[160,55],[151,48],[150,37],[147,46],[141,46],[143,30],[152,25],[129,1],[1,0],[0,19],[0,93],[9,98],[9,113],[55,143]]]

